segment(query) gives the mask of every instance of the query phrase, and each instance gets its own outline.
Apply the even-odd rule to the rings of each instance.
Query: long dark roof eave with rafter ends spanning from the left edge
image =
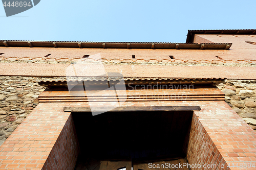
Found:
[[[87,42],[87,41],[8,41],[0,40],[7,47],[66,47],[66,48],[141,48],[141,49],[193,49],[228,50],[232,43],[174,43],[174,42]]]

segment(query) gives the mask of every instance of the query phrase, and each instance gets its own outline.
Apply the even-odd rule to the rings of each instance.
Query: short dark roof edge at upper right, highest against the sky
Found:
[[[188,30],[186,43],[193,43],[195,34],[256,34],[256,29],[247,30]]]

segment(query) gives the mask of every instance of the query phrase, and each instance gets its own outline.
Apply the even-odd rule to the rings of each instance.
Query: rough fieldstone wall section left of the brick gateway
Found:
[[[0,145],[38,104],[41,78],[0,77]]]

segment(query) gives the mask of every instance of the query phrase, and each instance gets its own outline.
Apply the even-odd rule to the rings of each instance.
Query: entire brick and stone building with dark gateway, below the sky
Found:
[[[256,30],[2,40],[0,67],[0,169],[256,169]]]

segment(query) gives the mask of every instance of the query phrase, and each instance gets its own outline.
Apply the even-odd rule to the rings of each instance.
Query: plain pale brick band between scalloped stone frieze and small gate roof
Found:
[[[66,76],[66,68],[68,66],[69,64],[0,63],[0,75]],[[124,77],[255,79],[256,75],[256,67],[106,64],[104,68],[107,72],[121,72]],[[97,75],[97,70],[86,72],[86,74],[89,77],[95,76]]]

